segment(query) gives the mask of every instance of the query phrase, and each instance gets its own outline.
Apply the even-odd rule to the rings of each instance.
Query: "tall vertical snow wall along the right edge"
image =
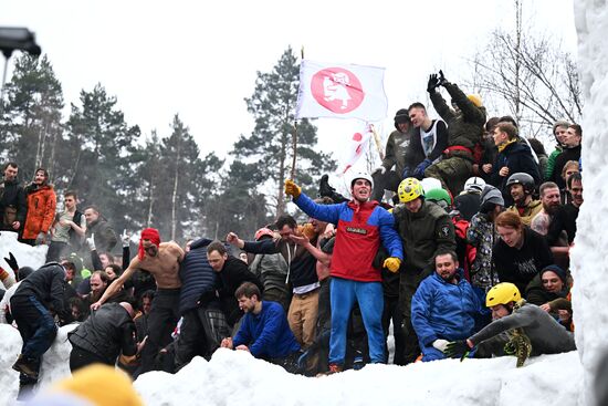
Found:
[[[583,119],[583,183],[585,204],[578,217],[573,252],[573,292],[576,342],[585,366],[586,403],[591,404],[591,384],[597,361],[607,351],[608,294],[606,283],[605,226],[608,209],[608,4],[606,1],[575,2],[578,31],[578,69],[585,110]]]

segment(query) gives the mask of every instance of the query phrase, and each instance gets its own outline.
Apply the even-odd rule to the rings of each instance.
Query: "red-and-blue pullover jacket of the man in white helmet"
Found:
[[[380,242],[389,252],[389,257],[403,259],[403,248],[395,229],[395,218],[379,207],[377,201],[360,205],[354,201],[317,205],[302,194],[294,202],[306,215],[337,225],[331,266],[333,277],[361,282],[381,281],[380,271],[373,267]]]

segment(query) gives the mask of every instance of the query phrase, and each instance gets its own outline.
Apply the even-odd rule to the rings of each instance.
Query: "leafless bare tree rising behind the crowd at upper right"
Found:
[[[555,121],[576,123],[583,110],[576,63],[559,43],[534,35],[523,24],[522,2],[514,0],[515,29],[495,30],[472,59],[473,86],[514,116],[527,135],[546,133]]]

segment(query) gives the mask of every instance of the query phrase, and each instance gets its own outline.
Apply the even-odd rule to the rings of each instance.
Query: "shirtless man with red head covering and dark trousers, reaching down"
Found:
[[[138,374],[154,368],[154,358],[160,348],[171,341],[171,332],[179,320],[179,263],[184,259],[184,250],[175,242],[160,242],[158,230],[147,228],[141,231],[139,251],[128,268],[118,277],[102,295],[91,305],[96,310],[108,298],[120,290],[120,287],[137,270],[144,270],[153,274],[156,280],[156,295],[148,315],[148,340],[141,351],[141,367]]]

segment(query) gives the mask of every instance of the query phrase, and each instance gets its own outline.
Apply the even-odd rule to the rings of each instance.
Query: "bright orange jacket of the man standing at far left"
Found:
[[[53,187],[45,185],[28,195],[28,216],[23,239],[33,240],[39,232],[48,232],[55,218],[57,199]]]

